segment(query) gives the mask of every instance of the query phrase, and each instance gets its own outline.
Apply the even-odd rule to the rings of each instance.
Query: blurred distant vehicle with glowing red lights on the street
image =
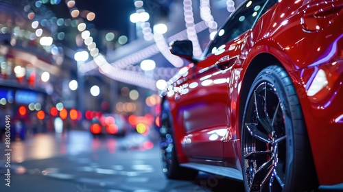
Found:
[[[91,120],[90,131],[93,136],[125,136],[128,132],[128,122],[123,115],[111,113],[103,114],[99,117],[93,117]]]

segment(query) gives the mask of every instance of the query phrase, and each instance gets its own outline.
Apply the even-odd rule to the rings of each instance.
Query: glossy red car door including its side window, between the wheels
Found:
[[[222,160],[223,141],[230,140],[229,91],[233,65],[240,64],[247,32],[261,16],[268,1],[245,1],[206,49],[206,58],[189,68],[180,85],[180,114],[186,130],[182,147],[196,160]],[[233,149],[232,149],[233,150]]]

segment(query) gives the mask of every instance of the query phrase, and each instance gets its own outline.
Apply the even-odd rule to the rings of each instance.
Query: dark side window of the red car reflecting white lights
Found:
[[[276,2],[277,0],[245,1],[219,30],[209,49],[206,50],[205,56],[215,53],[220,46],[251,29],[257,19]]]

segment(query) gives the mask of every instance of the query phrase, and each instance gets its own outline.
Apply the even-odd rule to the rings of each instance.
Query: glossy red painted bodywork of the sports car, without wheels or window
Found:
[[[161,94],[178,163],[230,167],[233,173],[223,175],[243,180],[241,123],[249,89],[261,70],[278,63],[300,102],[318,185],[343,189],[342,23],[343,1],[276,2],[224,48],[180,69]]]

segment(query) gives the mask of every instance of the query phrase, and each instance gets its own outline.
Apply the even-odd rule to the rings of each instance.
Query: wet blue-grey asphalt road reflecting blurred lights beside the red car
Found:
[[[85,131],[35,134],[11,141],[10,163],[0,145],[0,191],[244,191],[241,182],[200,172],[196,180],[167,180],[156,138],[93,138]],[[7,164],[6,164],[7,163]],[[10,187],[8,168],[10,164]]]

